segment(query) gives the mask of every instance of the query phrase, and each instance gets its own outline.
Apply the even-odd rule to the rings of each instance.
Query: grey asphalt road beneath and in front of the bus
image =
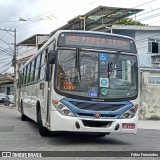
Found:
[[[22,122],[16,109],[0,106],[0,151],[160,151],[160,131],[138,129],[137,135],[103,138],[75,134],[41,137],[36,123]]]

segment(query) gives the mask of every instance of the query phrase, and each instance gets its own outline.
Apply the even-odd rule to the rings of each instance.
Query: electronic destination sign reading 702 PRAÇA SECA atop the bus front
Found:
[[[87,47],[136,52],[135,44],[131,39],[124,37],[91,33],[62,33],[59,46]]]

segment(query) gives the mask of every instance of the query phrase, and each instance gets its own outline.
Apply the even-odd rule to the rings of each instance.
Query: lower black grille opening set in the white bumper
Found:
[[[112,121],[90,121],[90,120],[82,120],[82,123],[85,127],[101,127],[107,128],[110,127]]]

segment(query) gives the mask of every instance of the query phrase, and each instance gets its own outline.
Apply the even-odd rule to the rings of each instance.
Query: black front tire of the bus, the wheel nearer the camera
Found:
[[[50,131],[49,131],[46,127],[43,126],[40,109],[38,109],[38,114],[37,114],[37,115],[38,115],[39,134],[40,134],[42,137],[47,137],[47,136],[49,136]]]

